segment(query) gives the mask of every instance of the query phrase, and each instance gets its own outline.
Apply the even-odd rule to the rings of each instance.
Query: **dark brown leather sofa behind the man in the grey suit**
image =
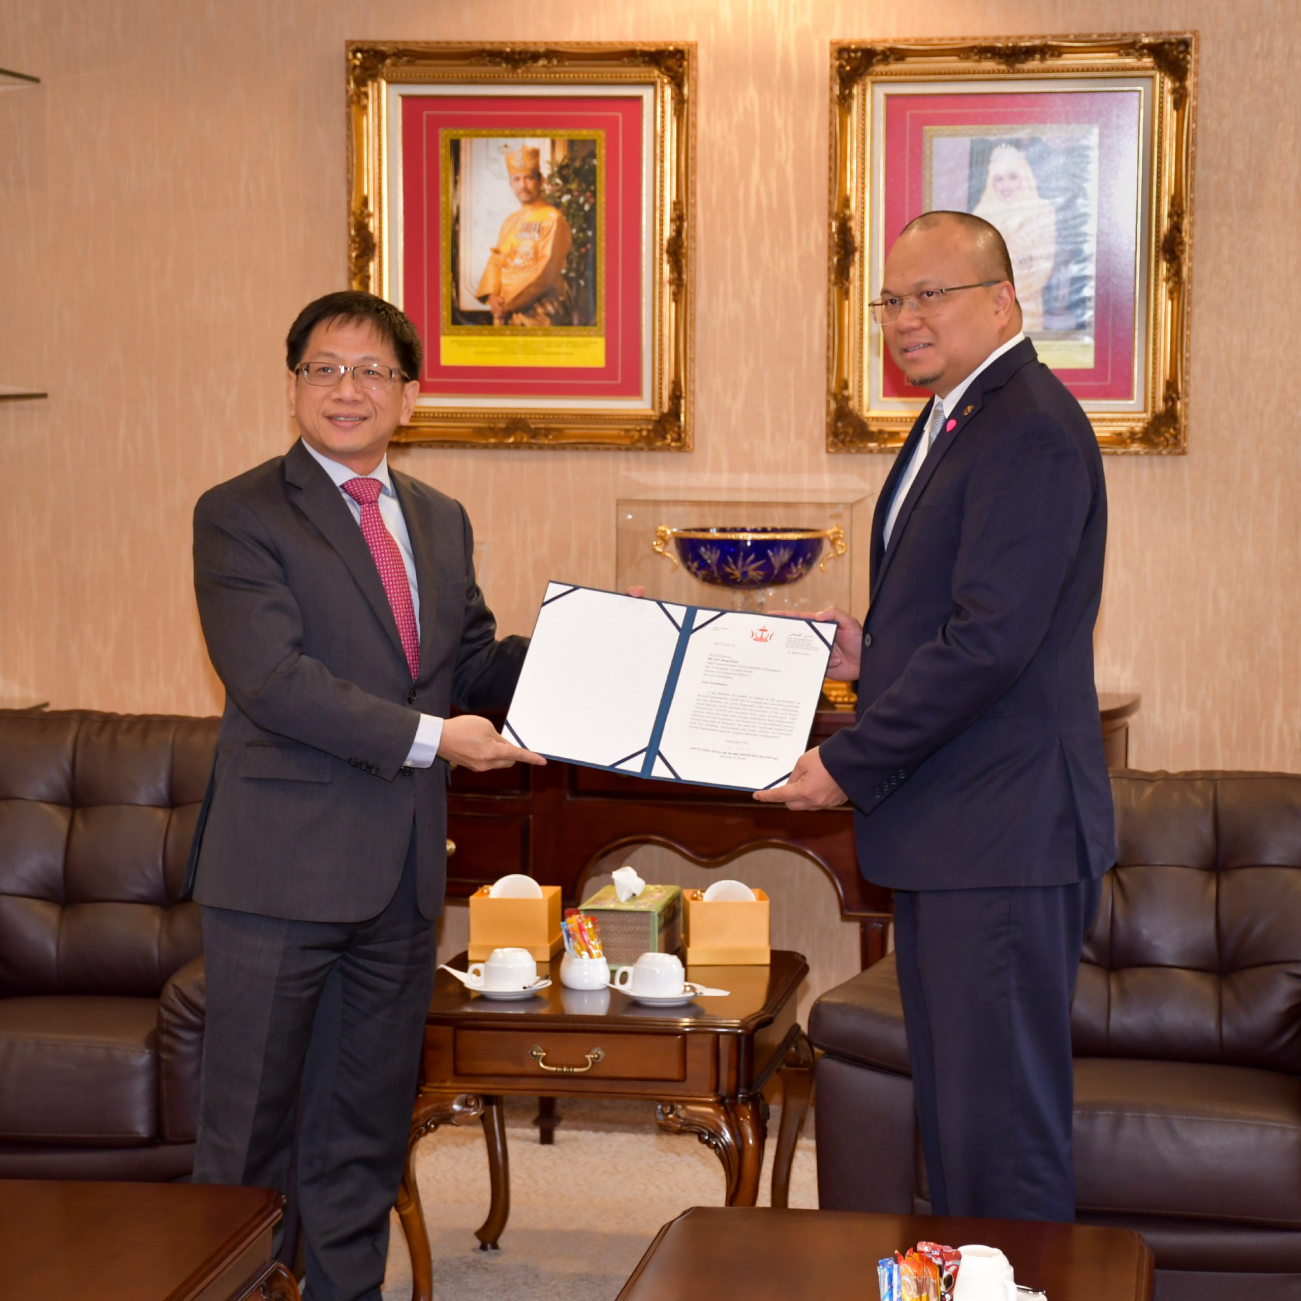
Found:
[[[0,1177],[191,1168],[203,959],[177,895],[216,732],[0,710]]]

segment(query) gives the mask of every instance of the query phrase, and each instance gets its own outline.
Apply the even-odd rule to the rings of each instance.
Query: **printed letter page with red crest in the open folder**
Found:
[[[762,790],[807,748],[835,624],[709,618],[696,615],[660,755],[684,782]]]

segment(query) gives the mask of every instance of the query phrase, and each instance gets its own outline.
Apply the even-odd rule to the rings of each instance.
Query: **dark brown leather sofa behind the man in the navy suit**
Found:
[[[1080,1219],[1144,1236],[1157,1301],[1297,1301],[1301,777],[1112,790],[1072,1008]],[[824,994],[811,1037],[821,1205],[929,1210],[894,955]]]

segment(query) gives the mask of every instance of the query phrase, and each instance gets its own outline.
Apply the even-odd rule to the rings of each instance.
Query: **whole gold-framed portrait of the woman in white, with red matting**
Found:
[[[1196,98],[1196,33],[833,42],[827,451],[894,451],[921,410],[866,310],[887,241],[929,207],[980,212],[991,151],[1030,169],[1038,148],[1066,180],[1041,195],[1030,169],[1016,200],[1055,241],[1037,346],[1058,349],[1103,451],[1187,453]]]

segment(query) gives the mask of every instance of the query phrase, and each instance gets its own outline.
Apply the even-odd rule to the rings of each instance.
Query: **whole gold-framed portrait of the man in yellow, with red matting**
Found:
[[[403,307],[425,349],[422,393],[396,441],[690,451],[695,44],[355,40],[346,66],[349,284]],[[566,262],[574,306],[545,323],[554,328],[474,311],[479,264],[457,262],[497,229],[483,226],[497,217],[471,228],[467,177],[487,187],[488,172],[470,172],[485,155],[462,143],[493,135],[483,148],[497,170],[497,154],[526,139],[591,142],[589,189],[570,193],[591,220],[572,255],[589,250],[592,269],[570,295],[585,264]],[[559,174],[554,161],[541,172],[544,186]],[[576,286],[592,284],[583,315]]]

